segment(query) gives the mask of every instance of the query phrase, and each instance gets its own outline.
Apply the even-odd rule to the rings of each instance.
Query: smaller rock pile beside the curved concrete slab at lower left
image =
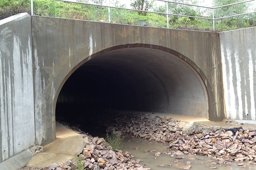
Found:
[[[74,129],[74,127],[73,127]],[[78,129],[76,129],[78,130]],[[51,164],[43,170],[77,170],[78,167],[90,170],[149,170],[139,164],[143,160],[133,160],[130,152],[112,150],[111,146],[104,145],[103,138],[92,137],[78,130],[85,141],[83,151],[77,159],[69,160],[65,164]]]

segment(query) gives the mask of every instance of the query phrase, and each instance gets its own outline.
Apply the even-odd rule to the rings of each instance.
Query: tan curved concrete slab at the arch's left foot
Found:
[[[84,148],[81,135],[56,122],[56,140],[43,147],[27,166],[44,168],[53,163],[61,164],[76,157]]]

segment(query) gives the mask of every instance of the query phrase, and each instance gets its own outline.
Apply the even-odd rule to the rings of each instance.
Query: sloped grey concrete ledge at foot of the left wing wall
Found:
[[[25,150],[18,155],[11,157],[8,160],[0,163],[1,170],[18,170],[27,164],[32,159],[34,154],[29,150]]]

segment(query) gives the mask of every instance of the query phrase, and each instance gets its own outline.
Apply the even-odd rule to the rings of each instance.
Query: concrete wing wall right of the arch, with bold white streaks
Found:
[[[220,33],[227,118],[256,120],[256,27]]]

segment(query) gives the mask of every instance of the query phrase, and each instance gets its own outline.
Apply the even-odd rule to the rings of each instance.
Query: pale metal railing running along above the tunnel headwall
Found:
[[[237,15],[231,15],[231,16],[224,16],[224,17],[220,17],[220,18],[214,18],[214,10],[215,9],[222,8],[222,7],[225,7],[225,6],[231,6],[231,5],[241,4],[241,3],[247,3],[247,2],[255,1],[255,0],[247,0],[247,1],[242,1],[242,2],[238,2],[238,3],[222,5],[222,6],[217,6],[217,7],[207,7],[207,6],[200,6],[200,5],[194,5],[194,4],[179,3],[179,2],[175,2],[175,1],[169,1],[169,0],[156,0],[156,1],[166,2],[166,13],[160,13],[160,12],[154,12],[154,11],[145,11],[145,10],[137,10],[137,9],[129,9],[129,8],[121,8],[121,7],[117,7],[117,6],[110,6],[109,4],[108,5],[100,5],[100,4],[90,4],[90,3],[83,3],[83,2],[76,2],[76,1],[68,1],[68,0],[56,0],[56,1],[63,1],[63,2],[67,2],[67,3],[78,3],[78,4],[85,4],[85,5],[94,5],[94,6],[107,7],[108,8],[108,21],[109,21],[109,23],[111,23],[110,8],[132,10],[132,11],[140,11],[140,12],[146,12],[146,13],[164,14],[164,15],[166,15],[166,18],[167,18],[167,28],[169,28],[169,15],[185,16],[185,17],[190,17],[190,18],[199,18],[199,19],[212,20],[213,21],[213,30],[215,30],[215,20],[224,19],[224,18],[231,18],[231,17],[239,16],[239,15],[247,15],[247,14],[256,13],[256,11],[253,11],[253,12],[250,12],[250,13],[243,13],[243,14],[237,14]],[[200,7],[200,8],[211,9],[212,13],[213,13],[213,16],[212,16],[212,18],[205,18],[205,17],[199,17],[199,16],[170,14],[170,13],[168,13],[168,3],[182,4],[182,5],[196,6],[196,7]],[[33,15],[33,0],[31,0],[31,15]]]

